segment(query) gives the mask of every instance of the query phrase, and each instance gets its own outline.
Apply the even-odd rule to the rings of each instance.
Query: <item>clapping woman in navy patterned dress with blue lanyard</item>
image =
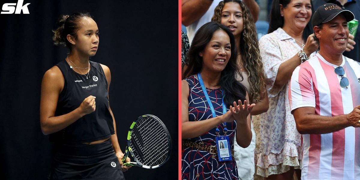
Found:
[[[231,158],[234,134],[236,143],[248,147],[249,113],[255,104],[248,105],[246,89],[235,78],[242,75],[233,33],[216,22],[204,24],[194,36],[188,58],[184,72],[188,78],[181,81],[182,179],[238,179]],[[228,138],[228,152],[219,150],[219,138]]]

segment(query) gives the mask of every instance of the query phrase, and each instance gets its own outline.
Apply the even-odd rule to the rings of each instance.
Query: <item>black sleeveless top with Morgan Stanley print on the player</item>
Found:
[[[56,65],[63,73],[64,89],[59,95],[55,116],[67,114],[80,106],[89,95],[96,97],[95,111],[86,114],[65,129],[50,134],[50,141],[85,143],[109,138],[115,134],[113,119],[108,109],[108,83],[99,63],[90,61],[88,79],[73,71],[64,60]]]

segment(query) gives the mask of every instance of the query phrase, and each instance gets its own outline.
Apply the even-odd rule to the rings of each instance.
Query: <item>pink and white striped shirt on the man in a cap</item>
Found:
[[[315,114],[348,114],[360,104],[360,64],[343,56],[340,65],[350,85],[340,87],[338,67],[319,53],[298,66],[289,85],[291,111],[314,107]],[[347,127],[328,134],[302,135],[302,180],[355,180],[360,178],[360,129]]]

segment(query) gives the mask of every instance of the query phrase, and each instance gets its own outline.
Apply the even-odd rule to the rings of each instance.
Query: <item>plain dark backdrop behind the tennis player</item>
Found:
[[[17,3],[17,0],[1,1]],[[0,179],[46,179],[52,145],[39,122],[44,73],[67,57],[52,42],[62,14],[89,12],[100,31],[92,61],[107,65],[122,150],[131,122],[158,116],[171,133],[172,157],[162,167],[132,167],[126,179],[177,179],[178,2],[24,0],[30,14],[0,14]]]

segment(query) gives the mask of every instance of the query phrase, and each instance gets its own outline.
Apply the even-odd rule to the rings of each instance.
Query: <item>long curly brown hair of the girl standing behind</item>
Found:
[[[249,12],[247,6],[240,0],[224,0],[216,6],[211,21],[220,23],[222,8],[228,2],[239,3],[243,11],[243,31],[241,32],[240,47],[238,49],[242,62],[249,75],[248,81],[251,89],[249,89],[250,103],[255,103],[261,99],[261,87],[266,89],[265,72],[262,67],[260,57],[259,42],[257,41],[256,27],[254,18]]]

